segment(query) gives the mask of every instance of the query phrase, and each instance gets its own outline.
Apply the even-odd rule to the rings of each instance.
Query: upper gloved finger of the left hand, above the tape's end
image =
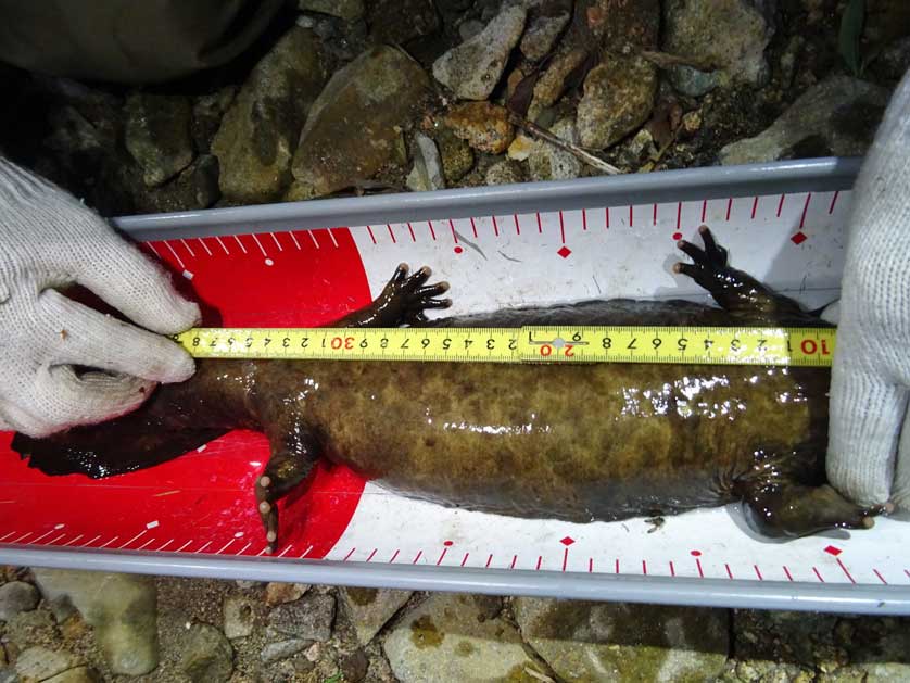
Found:
[[[114,232],[105,238],[97,255],[72,265],[79,284],[154,332],[175,334],[199,324],[199,306],[177,293],[164,268]]]

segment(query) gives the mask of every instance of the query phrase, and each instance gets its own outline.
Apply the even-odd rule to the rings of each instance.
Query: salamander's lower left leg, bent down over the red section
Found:
[[[307,432],[282,431],[270,435],[271,457],[256,479],[256,505],[265,528],[267,552],[278,543],[278,501],[313,471],[318,459],[318,444]]]

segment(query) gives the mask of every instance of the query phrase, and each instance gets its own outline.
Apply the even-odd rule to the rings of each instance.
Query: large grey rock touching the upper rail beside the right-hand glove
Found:
[[[724,147],[720,162],[861,155],[887,102],[884,88],[849,76],[829,77],[804,92],[770,128]]]

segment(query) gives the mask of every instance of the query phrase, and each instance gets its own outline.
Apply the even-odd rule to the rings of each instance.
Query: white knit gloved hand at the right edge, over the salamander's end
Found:
[[[910,73],[854,190],[831,382],[827,476],[910,509]]]

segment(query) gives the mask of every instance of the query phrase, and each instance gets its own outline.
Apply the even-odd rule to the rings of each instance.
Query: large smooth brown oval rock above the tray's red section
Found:
[[[329,80],[300,136],[293,175],[314,194],[371,178],[395,153],[402,126],[429,92],[417,62],[388,46],[363,53]]]

